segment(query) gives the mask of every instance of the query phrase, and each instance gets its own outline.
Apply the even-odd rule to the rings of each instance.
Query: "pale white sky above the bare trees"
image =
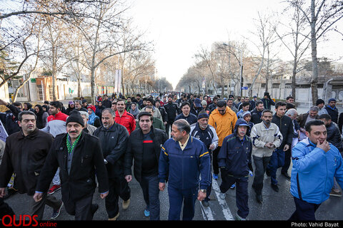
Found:
[[[257,12],[281,11],[278,0],[130,0],[126,13],[155,43],[153,56],[157,76],[165,77],[174,88],[194,64],[194,54],[214,42],[239,41],[252,36]],[[341,23],[342,24],[342,23]],[[329,57],[339,56],[342,38],[321,43]],[[320,49],[322,48],[322,49]]]

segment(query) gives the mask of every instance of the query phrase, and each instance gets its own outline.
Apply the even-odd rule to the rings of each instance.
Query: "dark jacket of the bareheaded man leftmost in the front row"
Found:
[[[34,195],[53,141],[52,135],[38,129],[26,137],[22,131],[9,135],[0,166],[0,187],[6,187],[14,173],[15,187],[19,192]]]

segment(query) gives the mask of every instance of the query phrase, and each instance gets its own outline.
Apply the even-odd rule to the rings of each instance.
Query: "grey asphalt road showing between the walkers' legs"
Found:
[[[294,212],[294,199],[289,193],[290,181],[284,176],[280,175],[280,169],[277,172],[277,179],[279,181],[279,192],[274,192],[270,187],[270,177],[264,177],[263,203],[259,204],[255,200],[254,190],[252,190],[253,177],[249,177],[249,216],[248,220],[287,220]],[[213,190],[211,193],[211,200],[209,207],[202,207],[198,201],[195,207],[194,220],[233,220],[237,214],[236,207],[236,190],[228,190],[225,200],[219,198],[219,185],[221,183],[220,177],[218,180],[213,180]],[[122,200],[119,199],[119,220],[120,221],[138,221],[149,220],[144,217],[145,203],[142,197],[141,187],[136,180],[129,183],[131,188],[130,206],[128,209],[121,208]],[[61,197],[61,191],[54,193],[57,198]],[[27,195],[16,194],[6,199],[7,202],[16,214],[28,214]],[[161,202],[161,220],[168,219],[169,198],[167,188],[159,195]],[[94,220],[107,220],[104,200],[99,197],[99,193],[94,193],[94,203],[99,204],[99,209],[94,214]],[[51,207],[46,206],[44,212],[44,220],[49,220],[51,216]],[[316,212],[318,220],[343,220],[343,199],[342,197],[329,197],[327,201]],[[56,220],[74,220],[74,217],[67,214],[64,208],[61,209],[61,214]]]

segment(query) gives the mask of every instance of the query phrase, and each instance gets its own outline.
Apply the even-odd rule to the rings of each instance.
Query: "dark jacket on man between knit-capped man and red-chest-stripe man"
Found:
[[[109,178],[122,177],[124,174],[124,153],[129,132],[123,125],[114,123],[111,128],[97,128],[93,135],[99,138]]]

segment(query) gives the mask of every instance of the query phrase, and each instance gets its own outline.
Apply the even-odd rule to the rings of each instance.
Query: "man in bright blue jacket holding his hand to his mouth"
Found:
[[[343,187],[343,161],[337,147],[327,142],[321,120],[305,125],[307,139],[292,149],[291,194],[296,206],[289,220],[315,220],[319,205],[329,198],[334,177]]]

